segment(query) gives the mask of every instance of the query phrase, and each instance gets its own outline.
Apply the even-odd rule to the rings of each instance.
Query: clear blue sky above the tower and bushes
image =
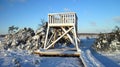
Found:
[[[110,32],[120,27],[120,0],[0,0],[0,34],[8,27],[38,28],[48,13],[76,12],[79,33]]]

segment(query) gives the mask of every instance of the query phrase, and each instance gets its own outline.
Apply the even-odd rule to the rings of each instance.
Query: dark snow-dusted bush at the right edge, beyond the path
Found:
[[[120,50],[120,28],[115,29],[110,33],[101,33],[96,39],[93,48],[97,51],[117,51]]]

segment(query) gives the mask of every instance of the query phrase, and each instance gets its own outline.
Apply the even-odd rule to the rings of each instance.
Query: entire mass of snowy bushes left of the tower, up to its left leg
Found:
[[[18,30],[14,34],[7,34],[1,42],[0,48],[2,49],[22,49],[22,50],[36,50],[44,44],[45,38],[45,25],[42,30],[34,32],[32,28],[24,28]]]

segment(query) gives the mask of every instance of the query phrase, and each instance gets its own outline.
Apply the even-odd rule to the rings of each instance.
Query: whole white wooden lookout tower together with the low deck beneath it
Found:
[[[49,13],[45,43],[43,45],[45,50],[38,53],[43,55],[79,56],[80,49],[78,47],[79,39],[77,38],[77,19],[75,12]],[[70,45],[74,46],[74,49],[55,49],[54,46],[57,42],[62,40],[62,38],[66,38],[64,41],[68,39],[69,42],[71,42]]]

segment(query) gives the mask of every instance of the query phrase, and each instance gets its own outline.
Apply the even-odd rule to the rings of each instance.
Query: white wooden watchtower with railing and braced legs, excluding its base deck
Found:
[[[67,36],[70,42],[75,46],[76,50],[78,48],[78,39],[77,39],[77,15],[74,12],[65,12],[65,13],[50,13],[48,14],[48,27],[45,37],[44,49],[49,49],[55,45],[61,38]],[[54,34],[49,36],[49,30],[53,30]],[[58,30],[61,34],[58,37]]]

